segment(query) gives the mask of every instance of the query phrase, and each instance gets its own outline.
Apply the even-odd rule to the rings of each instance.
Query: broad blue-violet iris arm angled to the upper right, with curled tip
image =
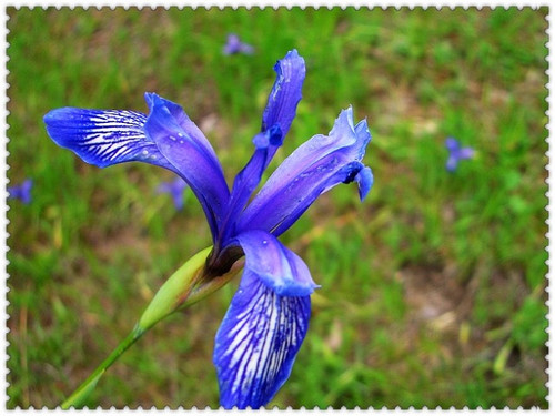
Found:
[[[366,122],[355,126],[352,109],[342,111],[330,135],[313,136],[275,170],[241,215],[238,232],[258,229],[278,236],[340,183],[357,182],[364,197],[373,182],[361,162],[370,140]]]

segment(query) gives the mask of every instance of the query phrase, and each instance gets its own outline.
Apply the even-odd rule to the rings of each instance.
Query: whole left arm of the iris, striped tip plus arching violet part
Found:
[[[62,108],[44,115],[62,148],[100,168],[140,161],[180,175],[199,199],[212,235],[219,235],[229,189],[210,142],[178,104],[147,93],[150,114],[127,110]]]

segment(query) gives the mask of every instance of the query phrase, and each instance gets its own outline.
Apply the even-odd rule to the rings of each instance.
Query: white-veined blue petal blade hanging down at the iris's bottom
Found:
[[[306,335],[310,296],[280,296],[245,270],[215,336],[224,408],[268,404],[291,374]]]

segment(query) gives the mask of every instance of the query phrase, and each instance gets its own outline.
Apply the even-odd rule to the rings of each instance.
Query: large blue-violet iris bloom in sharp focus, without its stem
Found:
[[[278,78],[253,138],[254,152],[226,185],[204,134],[178,104],[147,93],[150,113],[62,108],[44,116],[56,143],[98,166],[141,161],[180,175],[199,199],[212,231],[204,274],[219,276],[245,256],[243,276],[215,336],[220,403],[259,408],[287,379],[309,327],[317,287],[306,264],[278,237],[324,192],[356,182],[361,200],[373,176],[361,162],[371,135],[366,121],[343,110],[329,135],[297,148],[252,197],[295,118],[305,77],[296,50],[274,67]]]

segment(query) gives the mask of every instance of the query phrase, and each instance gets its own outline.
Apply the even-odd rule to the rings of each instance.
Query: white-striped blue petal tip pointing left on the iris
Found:
[[[44,115],[50,138],[100,168],[141,161],[176,171],[143,131],[147,115],[127,110],[62,108]]]

